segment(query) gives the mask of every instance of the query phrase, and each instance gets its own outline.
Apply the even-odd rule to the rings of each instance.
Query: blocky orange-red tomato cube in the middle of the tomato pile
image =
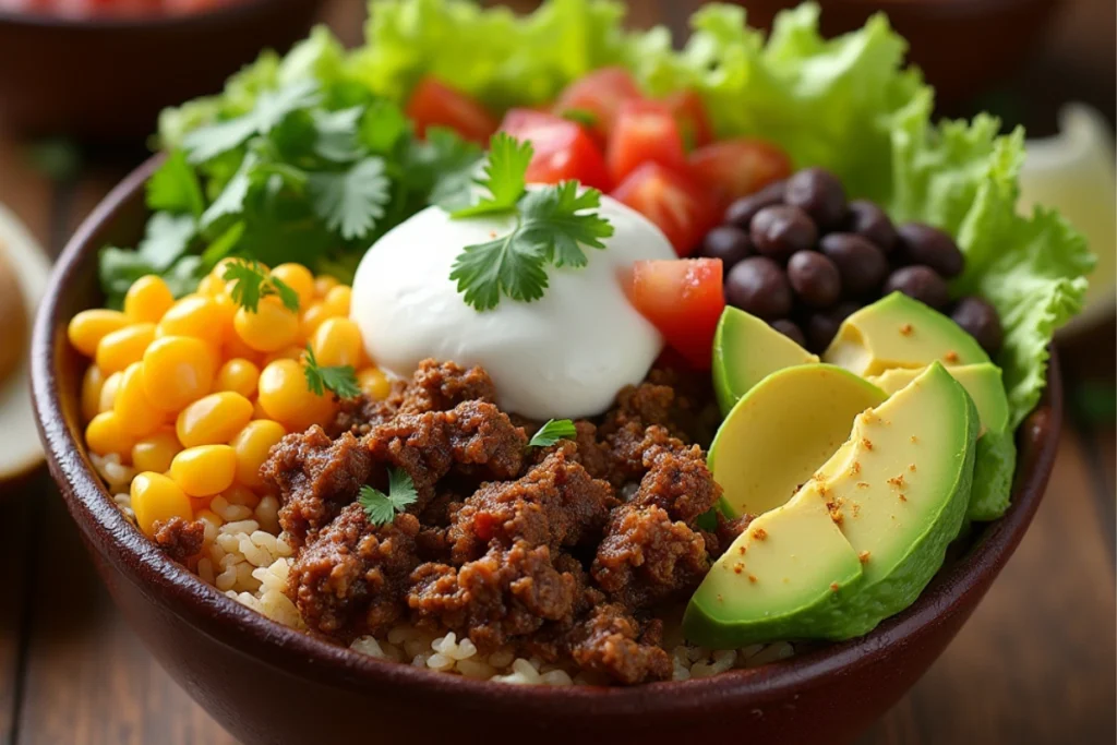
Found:
[[[662,102],[627,101],[605,146],[609,175],[620,183],[649,161],[679,172],[687,170],[679,125]]]

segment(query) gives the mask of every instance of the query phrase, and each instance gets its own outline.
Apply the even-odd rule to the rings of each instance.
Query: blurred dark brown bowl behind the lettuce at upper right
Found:
[[[732,0],[748,23],[772,19],[801,0]],[[1020,68],[1062,0],[818,0],[822,31],[834,36],[865,26],[878,11],[908,40],[909,60],[923,68],[947,106],[986,92]]]

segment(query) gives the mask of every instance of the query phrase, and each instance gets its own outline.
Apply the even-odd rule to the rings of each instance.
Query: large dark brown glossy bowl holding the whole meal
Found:
[[[80,227],[58,261],[32,341],[32,388],[50,471],[136,633],[206,710],[246,743],[848,743],[939,656],[1012,554],[1039,506],[1062,391],[1021,428],[1012,508],[983,528],[919,600],[872,633],[753,670],[636,688],[478,682],[382,662],[268,621],[170,561],[124,519],[80,447],[83,363],[66,324],[96,305],[96,254],[144,219],[152,159]],[[394,739],[390,739],[394,738]]]

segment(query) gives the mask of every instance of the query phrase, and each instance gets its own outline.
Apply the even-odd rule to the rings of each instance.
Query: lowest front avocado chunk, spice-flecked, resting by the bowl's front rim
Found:
[[[841,624],[841,601],[860,581],[857,553],[808,485],[737,536],[690,599],[682,631],[713,649],[818,637]]]

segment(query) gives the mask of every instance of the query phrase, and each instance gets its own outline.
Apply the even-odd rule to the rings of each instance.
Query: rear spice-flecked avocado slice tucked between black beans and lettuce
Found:
[[[823,362],[858,375],[880,375],[892,367],[989,362],[974,337],[937,311],[892,293],[846,318],[822,355]]]

